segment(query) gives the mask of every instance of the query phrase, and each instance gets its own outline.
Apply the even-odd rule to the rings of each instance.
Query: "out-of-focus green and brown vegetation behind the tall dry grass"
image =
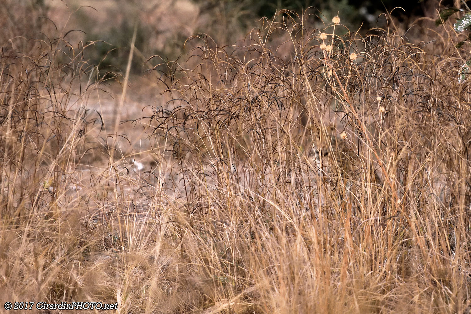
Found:
[[[451,6],[453,1],[441,1]],[[222,46],[244,38],[256,21],[271,19],[277,10],[287,9],[299,14],[306,8],[316,16],[309,16],[313,27],[323,29],[333,16],[341,17],[341,24],[351,31],[361,27],[368,32],[372,27],[387,28],[382,13],[391,13],[402,27],[418,17],[437,15],[437,0],[1,0],[2,29],[16,30],[0,35],[2,46],[8,39],[41,39],[46,28],[70,30],[67,40],[72,46],[94,42],[85,51],[90,64],[97,64],[100,73],[123,72],[128,62],[130,41],[137,27],[135,55],[131,73],[138,74],[154,68],[169,71],[166,61],[177,60],[188,37],[205,33]],[[401,7],[404,10],[398,8]],[[23,12],[16,14],[16,12]],[[18,23],[18,16],[26,21]],[[282,18],[283,16],[278,16]],[[53,22],[54,25],[51,23]],[[27,27],[11,27],[25,25]],[[8,27],[10,26],[10,27]],[[341,30],[338,30],[341,32]],[[21,41],[21,40],[20,40]],[[9,45],[11,45],[10,43]],[[21,49],[24,51],[24,49]],[[151,56],[151,61],[145,62]]]

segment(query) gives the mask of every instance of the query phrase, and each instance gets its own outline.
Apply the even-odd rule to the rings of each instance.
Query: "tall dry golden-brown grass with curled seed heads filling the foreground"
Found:
[[[467,54],[284,14],[236,45],[191,38],[132,119],[86,109],[106,82],[67,41],[2,41],[2,305],[469,313]],[[332,132],[354,167],[311,162],[345,152]]]

